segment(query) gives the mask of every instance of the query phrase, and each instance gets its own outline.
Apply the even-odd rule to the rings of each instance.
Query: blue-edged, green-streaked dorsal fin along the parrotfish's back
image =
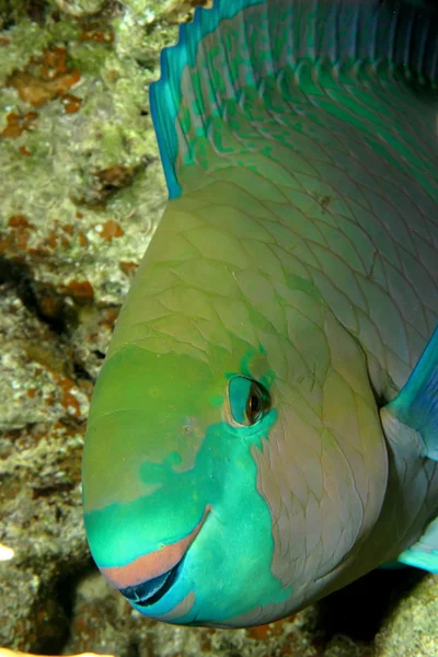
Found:
[[[341,74],[343,65],[368,62],[379,73],[383,64],[382,74],[396,67],[406,82],[435,89],[436,19],[435,8],[417,0],[216,0],[198,8],[177,45],[162,51],[161,78],[150,88],[170,198],[181,195],[178,166],[197,161],[193,138],[208,141],[211,119],[227,118],[226,101],[260,91],[268,77],[279,83],[287,67],[322,62]]]

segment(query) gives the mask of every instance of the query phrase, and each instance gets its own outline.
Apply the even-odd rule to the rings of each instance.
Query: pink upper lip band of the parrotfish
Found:
[[[105,579],[117,589],[128,586],[136,586],[149,579],[153,579],[163,573],[166,573],[183,558],[193,541],[198,535],[200,528],[207,519],[210,506],[207,506],[204,516],[191,533],[171,545],[164,545],[160,550],[142,554],[125,566],[113,566],[110,568],[100,568]]]

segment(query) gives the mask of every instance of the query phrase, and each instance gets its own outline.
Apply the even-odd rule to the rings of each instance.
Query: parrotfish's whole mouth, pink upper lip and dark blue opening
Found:
[[[148,552],[123,566],[101,567],[112,587],[139,607],[154,604],[170,590],[182,570],[184,557],[207,520],[208,505],[196,527],[183,539]]]

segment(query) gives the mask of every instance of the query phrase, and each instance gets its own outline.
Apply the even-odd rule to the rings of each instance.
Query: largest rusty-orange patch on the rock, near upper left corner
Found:
[[[59,47],[46,49],[42,59],[32,58],[24,71],[14,71],[7,78],[7,85],[14,87],[22,101],[38,107],[65,95],[80,77],[79,70],[68,69],[67,50]]]

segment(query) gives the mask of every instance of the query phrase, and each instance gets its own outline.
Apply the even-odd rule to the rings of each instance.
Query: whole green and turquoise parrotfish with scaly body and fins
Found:
[[[438,573],[438,30],[216,0],[161,57],[169,203],[93,393],[92,556],[170,623]]]

